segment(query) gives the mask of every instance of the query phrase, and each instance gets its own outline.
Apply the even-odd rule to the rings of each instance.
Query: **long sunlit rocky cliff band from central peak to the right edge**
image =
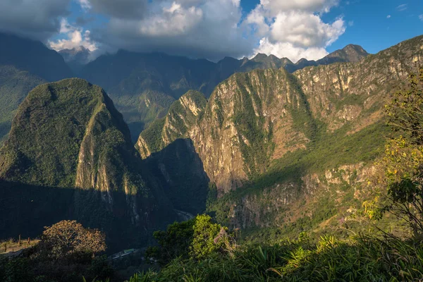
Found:
[[[178,136],[189,137],[210,180],[221,193],[228,192],[287,152],[311,148],[319,135],[341,128],[350,135],[380,121],[393,87],[417,71],[422,45],[423,37],[416,37],[355,63],[304,68],[292,75],[283,68],[235,73],[216,87],[190,130],[165,122],[158,148],[143,135],[138,147],[147,157]]]

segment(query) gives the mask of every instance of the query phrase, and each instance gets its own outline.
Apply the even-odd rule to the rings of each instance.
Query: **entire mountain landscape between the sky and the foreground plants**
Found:
[[[0,179],[4,198],[23,198],[5,203],[1,234],[78,219],[110,240],[124,229],[116,249],[180,212],[251,232],[324,229],[353,213],[384,146],[384,104],[423,59],[420,36],[297,63],[121,50],[71,68],[78,50],[65,60],[40,42],[0,39]],[[34,191],[65,207],[44,220],[56,205]],[[20,213],[31,231],[8,228]]]

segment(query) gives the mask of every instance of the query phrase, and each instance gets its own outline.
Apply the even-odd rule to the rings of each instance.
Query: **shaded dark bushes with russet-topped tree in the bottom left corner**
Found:
[[[25,243],[22,243],[25,244]],[[114,271],[105,256],[104,234],[76,221],[46,227],[37,244],[0,256],[0,281],[56,282],[109,278]],[[10,250],[9,250],[10,251]]]

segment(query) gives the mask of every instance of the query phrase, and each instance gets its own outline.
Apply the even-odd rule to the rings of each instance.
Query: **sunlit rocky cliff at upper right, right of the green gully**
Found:
[[[310,109],[329,130],[353,122],[357,132],[381,117],[394,87],[407,81],[422,64],[423,37],[407,40],[356,63],[304,68],[294,75]]]

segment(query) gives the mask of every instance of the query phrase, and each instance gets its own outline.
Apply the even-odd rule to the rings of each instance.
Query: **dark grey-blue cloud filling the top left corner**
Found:
[[[46,40],[59,31],[70,0],[1,0],[0,31]]]

